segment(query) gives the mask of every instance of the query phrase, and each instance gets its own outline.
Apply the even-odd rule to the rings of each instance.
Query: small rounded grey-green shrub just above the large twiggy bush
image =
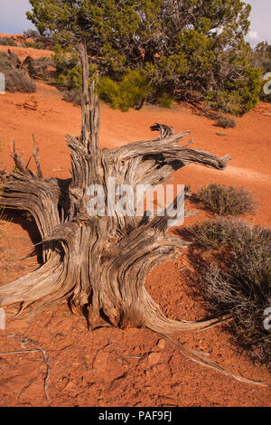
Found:
[[[254,213],[257,203],[253,195],[243,187],[209,184],[195,196],[211,213],[219,215],[242,215]]]

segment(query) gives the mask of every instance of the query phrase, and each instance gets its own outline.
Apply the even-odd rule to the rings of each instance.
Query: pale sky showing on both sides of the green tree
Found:
[[[252,5],[247,41],[253,46],[262,41],[271,42],[271,1],[245,0],[245,3]],[[25,16],[31,10],[28,0],[0,0],[0,5],[0,33],[23,33],[33,28]]]

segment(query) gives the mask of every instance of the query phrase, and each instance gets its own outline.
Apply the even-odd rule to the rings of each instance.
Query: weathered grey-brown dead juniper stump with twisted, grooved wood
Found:
[[[169,234],[167,214],[145,220],[117,209],[109,214],[106,203],[104,215],[93,216],[88,205],[90,185],[101,185],[108,198],[108,177],[114,177],[117,185],[129,184],[135,191],[138,184],[164,184],[169,175],[188,164],[222,170],[229,156],[219,158],[180,146],[181,138],[189,132],[173,135],[172,131],[165,138],[160,133],[159,139],[101,149],[98,96],[94,82],[89,84],[87,42],[78,42],[76,47],[83,87],[81,134],[66,137],[71,178],[43,178],[35,145],[37,173],[29,168],[29,162],[23,162],[14,146],[12,156],[18,171],[0,170],[1,182],[5,182],[0,207],[32,214],[41,235],[43,259],[39,269],[0,288],[0,306],[19,303],[20,314],[25,315],[69,300],[71,306],[81,309],[90,306],[92,323],[102,313],[112,326],[147,327],[165,336],[221,323],[221,318],[201,322],[170,319],[145,289],[147,274],[158,263],[178,257],[180,249],[188,245]],[[181,345],[180,351],[194,362],[250,382],[203,354]]]

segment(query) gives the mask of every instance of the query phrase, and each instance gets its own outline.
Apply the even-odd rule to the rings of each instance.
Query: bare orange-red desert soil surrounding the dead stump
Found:
[[[5,52],[7,46],[1,46]],[[44,52],[13,47],[20,59]],[[46,55],[51,54],[46,51]],[[37,101],[37,109],[23,108]],[[150,126],[160,122],[175,132],[190,130],[194,147],[217,156],[229,154],[224,171],[188,165],[173,175],[175,184],[191,184],[192,192],[210,183],[232,184],[255,194],[257,212],[244,220],[271,225],[271,105],[258,103],[227,136],[217,135],[214,122],[175,105],[173,109],[145,106],[121,112],[101,105],[100,146],[111,148],[154,137]],[[10,170],[9,155],[14,138],[27,160],[32,137],[40,147],[44,177],[70,177],[70,155],[65,135],[78,136],[80,109],[64,101],[53,85],[37,82],[33,94],[0,95],[1,168]],[[190,209],[196,208],[190,204]],[[200,211],[185,225],[208,217]],[[0,285],[38,267],[38,258],[24,259],[33,251],[37,230],[27,216],[11,214],[0,243]],[[192,268],[185,251],[177,260],[157,266],[148,276],[146,288],[173,318],[199,320],[207,316],[192,291],[182,268]],[[192,363],[164,338],[143,329],[122,331],[114,327],[88,331],[83,316],[72,315],[67,303],[33,319],[15,318],[16,309],[6,309],[5,330],[0,330],[0,400],[2,406],[270,406],[270,384],[241,383]],[[174,338],[187,347],[206,353],[234,373],[263,382],[270,375],[238,354],[222,326],[210,330],[179,333]],[[34,342],[35,344],[31,343]],[[38,348],[37,348],[38,347]],[[29,353],[13,352],[29,350]],[[11,354],[4,354],[4,353]],[[44,380],[46,388],[44,392]],[[47,394],[47,396],[46,396]]]

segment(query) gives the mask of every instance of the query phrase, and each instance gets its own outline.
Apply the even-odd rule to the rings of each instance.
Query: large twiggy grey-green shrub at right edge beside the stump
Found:
[[[198,272],[205,306],[211,314],[229,314],[235,344],[271,368],[271,333],[263,324],[271,307],[271,230],[225,218],[187,230],[203,250],[220,249]]]

